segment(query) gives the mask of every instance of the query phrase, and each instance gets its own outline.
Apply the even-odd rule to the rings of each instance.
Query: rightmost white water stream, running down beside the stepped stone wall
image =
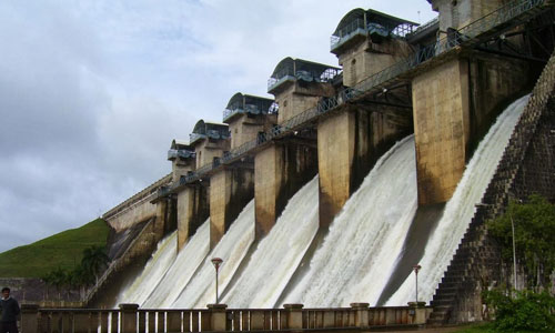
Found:
[[[515,101],[500,115],[466,165],[464,175],[453,198],[447,202],[443,216],[431,235],[420,262],[422,270],[418,272],[418,300],[427,302],[432,300],[435,289],[474,216],[475,205],[481,202],[495,173],[528,98],[529,95]],[[405,305],[406,302],[414,301],[414,284],[415,279],[411,274],[386,302],[386,305]]]

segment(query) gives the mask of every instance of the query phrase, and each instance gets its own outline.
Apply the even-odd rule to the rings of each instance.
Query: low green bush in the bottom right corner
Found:
[[[553,332],[555,330],[555,297],[547,292],[486,292],[486,303],[495,310],[496,332]]]

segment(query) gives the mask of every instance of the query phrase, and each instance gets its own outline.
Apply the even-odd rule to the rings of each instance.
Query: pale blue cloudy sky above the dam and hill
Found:
[[[80,226],[170,172],[172,139],[266,95],[291,56],[337,64],[362,7],[416,22],[425,0],[0,1],[0,252]]]

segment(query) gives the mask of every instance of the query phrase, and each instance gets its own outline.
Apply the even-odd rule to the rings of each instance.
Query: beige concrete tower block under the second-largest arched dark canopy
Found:
[[[275,94],[275,101],[280,105],[278,123],[281,124],[303,111],[316,107],[321,97],[332,97],[333,94],[334,89],[330,83],[295,81]]]

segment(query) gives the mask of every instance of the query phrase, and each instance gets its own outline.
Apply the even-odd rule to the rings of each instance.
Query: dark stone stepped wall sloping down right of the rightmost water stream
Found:
[[[545,159],[553,159],[549,151],[555,144],[554,133],[555,53],[545,65],[531,100],[516,124],[482,199],[483,205],[477,206],[435,292],[431,302],[434,311],[428,319],[430,325],[482,319],[481,291],[486,289],[488,283],[500,281],[502,278],[500,251],[495,242],[488,238],[485,222],[503,213],[509,198],[525,199],[532,192],[554,198],[555,173],[552,171],[554,167],[542,165],[546,163]],[[529,180],[526,179],[528,173],[534,174],[528,176]],[[534,178],[539,178],[541,181],[534,181]],[[543,184],[538,185],[539,183]]]

